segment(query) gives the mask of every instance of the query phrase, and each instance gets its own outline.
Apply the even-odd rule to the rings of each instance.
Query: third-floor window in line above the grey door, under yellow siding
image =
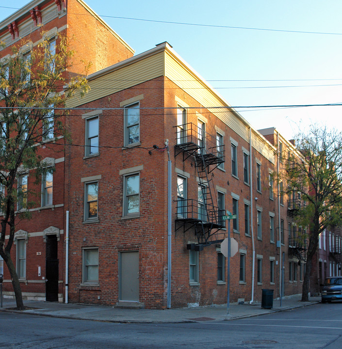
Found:
[[[124,145],[140,143],[140,104],[135,103],[124,108]]]

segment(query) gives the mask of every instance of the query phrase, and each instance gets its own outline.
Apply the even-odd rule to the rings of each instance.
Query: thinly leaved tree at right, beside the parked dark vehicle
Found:
[[[319,235],[327,227],[342,225],[342,134],[312,126],[309,133],[297,136],[296,148],[300,156],[288,159],[285,192],[299,198],[302,205],[295,207],[294,219],[308,227],[301,237],[308,240],[302,291],[302,301],[308,301],[311,263]]]

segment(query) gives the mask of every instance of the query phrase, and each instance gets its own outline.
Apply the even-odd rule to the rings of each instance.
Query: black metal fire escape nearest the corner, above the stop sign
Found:
[[[189,244],[188,249],[203,250],[204,246],[219,243],[225,238],[223,209],[216,202],[212,182],[212,171],[225,161],[225,146],[210,136],[203,127],[192,123],[176,126],[175,157],[183,161],[194,159],[198,174],[198,200],[178,198],[176,231],[183,233],[194,228],[197,244]],[[221,230],[221,232],[220,232]]]

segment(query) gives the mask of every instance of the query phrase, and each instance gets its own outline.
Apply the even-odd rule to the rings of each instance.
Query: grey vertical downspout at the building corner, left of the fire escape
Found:
[[[166,140],[167,150],[167,308],[171,308],[171,218],[172,218],[172,191],[171,191],[171,159]]]

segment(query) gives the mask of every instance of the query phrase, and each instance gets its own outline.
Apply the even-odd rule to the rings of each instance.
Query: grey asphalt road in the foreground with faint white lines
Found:
[[[0,348],[341,349],[342,303],[229,321],[119,324],[0,312]]]

